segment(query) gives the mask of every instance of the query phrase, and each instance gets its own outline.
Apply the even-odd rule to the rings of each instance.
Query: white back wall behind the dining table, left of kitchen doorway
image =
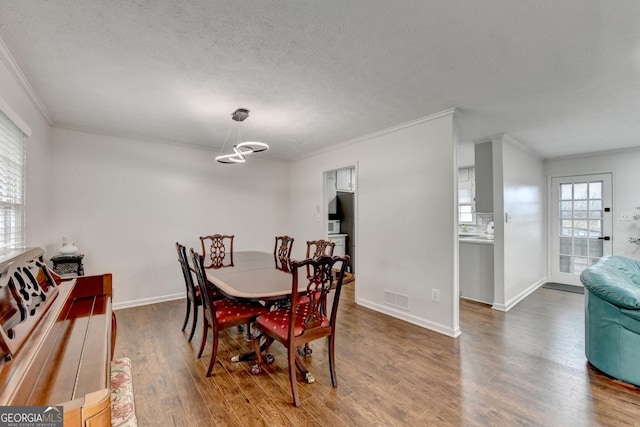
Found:
[[[252,157],[222,165],[211,151],[53,129],[54,254],[72,235],[86,274],[113,273],[114,303],[181,297],[175,242],[234,234],[234,250],[272,251],[287,226],[288,166]]]

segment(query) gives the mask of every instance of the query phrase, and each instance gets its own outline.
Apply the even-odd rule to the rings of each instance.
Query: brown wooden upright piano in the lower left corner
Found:
[[[40,248],[0,255],[0,405],[62,406],[65,427],[111,426],[111,274],[64,279]]]

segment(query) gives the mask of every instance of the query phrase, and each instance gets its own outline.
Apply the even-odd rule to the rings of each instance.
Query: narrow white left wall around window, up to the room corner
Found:
[[[12,71],[4,45],[0,45],[0,97],[32,131],[27,139],[26,244],[43,246],[50,236],[50,128]]]

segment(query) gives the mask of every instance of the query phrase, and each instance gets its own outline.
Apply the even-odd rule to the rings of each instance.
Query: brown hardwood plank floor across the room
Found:
[[[235,329],[196,358],[185,302],[118,310],[116,357],[132,359],[140,426],[640,425],[640,389],[613,381],[584,356],[584,295],[538,289],[509,313],[462,300],[463,334],[452,339],[354,303],[345,287],[331,387],[324,340],[311,344],[291,404],[286,355],[253,376],[230,357],[250,348]]]

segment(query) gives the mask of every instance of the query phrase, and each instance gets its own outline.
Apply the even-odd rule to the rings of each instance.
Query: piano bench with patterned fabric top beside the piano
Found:
[[[136,427],[131,359],[111,361],[111,427]]]

